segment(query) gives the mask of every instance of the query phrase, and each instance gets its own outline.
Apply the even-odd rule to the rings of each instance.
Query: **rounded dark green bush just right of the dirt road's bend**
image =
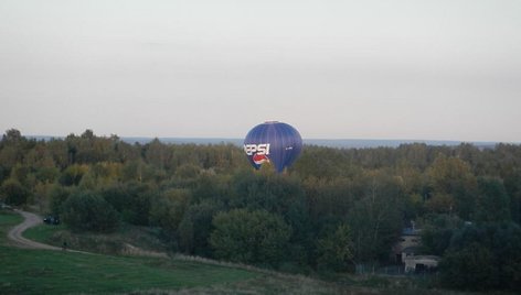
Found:
[[[75,231],[113,231],[118,226],[116,210],[93,192],[72,194],[62,206],[62,220]]]

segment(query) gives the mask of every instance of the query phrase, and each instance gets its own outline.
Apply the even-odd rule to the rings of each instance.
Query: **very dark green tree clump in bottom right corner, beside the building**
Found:
[[[462,289],[521,289],[521,228],[512,222],[465,226],[439,265],[442,282]]]

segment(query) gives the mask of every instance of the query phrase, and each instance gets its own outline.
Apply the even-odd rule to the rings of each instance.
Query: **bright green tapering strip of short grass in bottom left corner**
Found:
[[[8,294],[179,289],[254,278],[258,273],[173,259],[108,256],[0,247]]]

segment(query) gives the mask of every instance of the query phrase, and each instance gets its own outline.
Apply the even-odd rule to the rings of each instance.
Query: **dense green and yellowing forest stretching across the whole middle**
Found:
[[[73,231],[157,228],[172,251],[288,272],[393,263],[422,228],[439,282],[521,289],[521,146],[305,146],[285,173],[254,171],[232,144],[129,144],[117,135],[36,141],[6,131],[0,200]]]

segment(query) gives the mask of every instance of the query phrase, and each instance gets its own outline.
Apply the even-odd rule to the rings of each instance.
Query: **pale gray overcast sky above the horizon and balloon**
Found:
[[[1,0],[0,132],[521,141],[519,0]]]

